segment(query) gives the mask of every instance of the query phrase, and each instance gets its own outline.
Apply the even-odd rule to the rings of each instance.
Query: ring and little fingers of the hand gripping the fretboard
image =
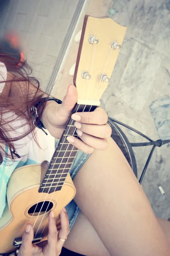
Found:
[[[79,140],[74,136],[68,136],[67,140],[69,143],[74,145],[76,148],[82,150],[86,154],[93,153],[94,148],[98,150],[105,150],[106,148],[108,148],[107,139],[101,139],[101,138],[91,136],[89,134],[85,134],[81,130],[76,130],[76,132],[81,138],[81,140]]]

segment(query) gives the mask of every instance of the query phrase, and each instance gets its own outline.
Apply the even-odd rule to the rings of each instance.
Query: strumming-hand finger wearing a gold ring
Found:
[[[67,236],[70,232],[68,215],[65,208],[62,209],[60,213],[60,221],[61,221],[61,229],[59,230],[59,233],[58,233],[58,237],[60,239],[58,238],[58,241],[57,241],[57,249],[58,249],[58,246],[62,248],[65,241],[62,241],[61,239],[63,240],[67,239]]]

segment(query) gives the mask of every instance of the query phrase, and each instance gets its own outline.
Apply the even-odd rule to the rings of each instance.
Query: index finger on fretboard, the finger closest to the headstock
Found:
[[[74,113],[71,118],[81,123],[94,125],[105,125],[108,122],[108,115],[101,107],[96,108],[93,112]]]

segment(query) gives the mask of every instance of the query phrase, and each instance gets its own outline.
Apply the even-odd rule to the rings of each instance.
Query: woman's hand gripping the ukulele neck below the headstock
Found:
[[[43,111],[42,123],[53,137],[60,138],[74,105],[77,102],[77,89],[70,84],[62,104],[47,102]],[[94,149],[105,150],[108,147],[106,138],[111,136],[111,127],[107,124],[108,115],[101,107],[94,112],[77,112],[71,118],[75,120],[77,134],[81,138],[68,136],[69,143],[85,153]]]

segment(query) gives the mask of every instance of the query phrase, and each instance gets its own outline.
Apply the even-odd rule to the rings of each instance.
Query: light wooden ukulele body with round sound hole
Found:
[[[45,213],[41,224],[40,222],[44,212],[41,212],[38,218],[36,216],[38,213],[34,213],[34,217],[31,220],[31,224],[34,224],[37,218],[34,226],[34,234],[40,225],[39,234],[41,234],[45,227],[43,238],[40,241],[47,239],[48,215],[51,210],[54,210],[57,228],[60,228],[59,213],[74,198],[76,189],[68,174],[60,191],[50,194],[39,193],[40,182],[47,167],[48,162],[45,161],[41,165],[36,164],[20,167],[12,173],[7,187],[6,208],[2,218],[0,218],[0,253],[11,253],[17,250],[13,246],[13,241],[15,238],[22,237],[26,224],[31,220],[30,208],[36,205],[39,200],[40,202],[46,201],[47,206],[50,201],[52,204],[50,204],[50,209]],[[35,207],[31,209],[34,212]]]

